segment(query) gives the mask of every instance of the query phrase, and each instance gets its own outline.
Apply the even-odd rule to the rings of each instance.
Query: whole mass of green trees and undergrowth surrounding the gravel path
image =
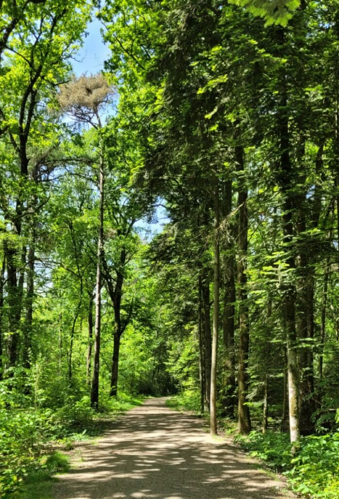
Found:
[[[338,0],[0,0],[0,494],[174,394],[335,498],[338,379]]]

